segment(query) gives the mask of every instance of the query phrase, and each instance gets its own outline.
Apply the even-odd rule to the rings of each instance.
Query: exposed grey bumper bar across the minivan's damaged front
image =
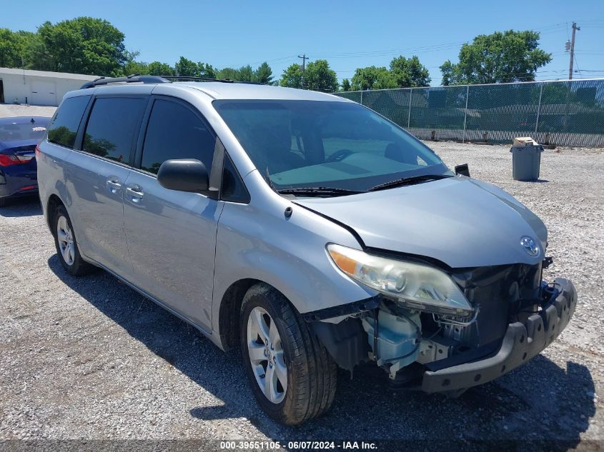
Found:
[[[460,391],[492,381],[522,366],[547,347],[568,325],[577,305],[577,291],[567,279],[557,278],[549,301],[524,322],[508,325],[499,348],[486,356],[475,351],[427,364],[422,391]],[[464,361],[465,360],[465,361]],[[468,361],[470,360],[470,361]]]

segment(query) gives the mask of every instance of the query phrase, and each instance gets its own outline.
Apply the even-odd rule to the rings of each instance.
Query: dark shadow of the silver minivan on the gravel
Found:
[[[195,328],[104,271],[74,278],[56,255],[48,263],[61,281],[132,338],[224,402],[196,406],[191,401],[189,414],[200,422],[239,419],[241,425],[241,418],[247,418],[279,441],[413,440],[415,447],[415,441],[422,440],[452,440],[463,447],[483,441],[518,441],[511,445],[518,447],[546,441],[547,450],[566,450],[576,446],[595,414],[595,386],[588,368],[574,361],[560,367],[539,355],[455,399],[392,391],[377,368],[357,368],[352,379],[340,371],[335,401],[325,416],[302,426],[281,426],[255,403],[239,352],[223,353]],[[247,430],[253,431],[250,427]]]

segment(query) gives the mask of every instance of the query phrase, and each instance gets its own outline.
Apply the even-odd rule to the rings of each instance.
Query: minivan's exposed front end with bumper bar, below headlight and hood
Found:
[[[397,388],[461,393],[528,362],[570,321],[573,283],[546,283],[542,269],[519,263],[450,271],[471,316],[413,309],[380,295],[305,318],[343,368],[374,361]]]

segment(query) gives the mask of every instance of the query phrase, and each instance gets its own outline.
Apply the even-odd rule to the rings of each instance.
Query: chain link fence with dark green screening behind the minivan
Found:
[[[604,147],[604,79],[334,93],[420,139]]]

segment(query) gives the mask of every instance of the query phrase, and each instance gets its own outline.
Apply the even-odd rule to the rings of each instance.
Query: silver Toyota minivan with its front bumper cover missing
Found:
[[[330,94],[99,79],[36,149],[65,270],[100,267],[241,348],[276,421],[324,413],[337,368],[459,396],[533,358],[577,293],[548,233],[400,126]]]

